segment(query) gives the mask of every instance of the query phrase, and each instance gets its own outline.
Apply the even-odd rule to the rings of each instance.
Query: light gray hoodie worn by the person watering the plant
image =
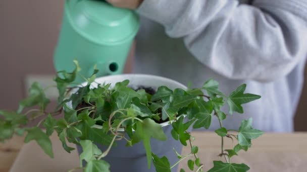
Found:
[[[137,12],[135,73],[193,87],[214,78],[226,94],[246,83],[262,98],[224,126],[238,129],[252,117],[254,128],[293,131],[307,57],[306,0],[144,0]],[[210,129],[217,128],[213,118]]]

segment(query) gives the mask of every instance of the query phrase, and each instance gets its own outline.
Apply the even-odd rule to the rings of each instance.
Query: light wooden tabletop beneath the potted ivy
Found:
[[[193,132],[199,147],[199,157],[208,170],[213,160],[223,160],[217,155],[221,149],[221,138],[212,132]],[[35,142],[23,145],[23,138],[14,137],[6,144],[0,144],[1,172],[48,172],[68,171],[79,165],[77,151],[66,153],[56,135],[52,136],[55,158],[51,159]],[[307,133],[277,134],[267,133],[253,140],[248,152],[239,152],[232,162],[246,163],[249,171],[307,171]],[[230,148],[232,141],[226,140],[225,148]],[[183,149],[188,153],[189,148]],[[186,162],[180,167],[187,169]],[[186,170],[189,171],[189,170]]]

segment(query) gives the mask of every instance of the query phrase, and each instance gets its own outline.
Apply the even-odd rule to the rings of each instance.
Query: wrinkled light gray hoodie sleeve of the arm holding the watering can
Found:
[[[271,81],[307,57],[307,1],[144,0],[137,12],[216,72]]]

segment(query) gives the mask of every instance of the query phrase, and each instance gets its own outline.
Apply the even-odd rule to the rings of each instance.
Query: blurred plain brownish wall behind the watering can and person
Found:
[[[32,81],[47,85],[52,81],[55,75],[53,53],[60,32],[62,11],[62,1],[1,0],[0,109],[18,108],[19,100],[26,96]],[[307,131],[304,124],[307,121],[307,70],[305,80],[295,115],[296,131]],[[54,90],[48,94],[56,96]]]

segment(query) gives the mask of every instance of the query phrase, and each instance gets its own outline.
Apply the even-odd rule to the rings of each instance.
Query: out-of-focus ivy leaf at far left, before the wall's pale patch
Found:
[[[38,82],[32,83],[28,92],[29,96],[20,101],[17,112],[21,113],[24,108],[32,107],[35,105],[38,105],[42,111],[45,110],[50,101],[46,98],[40,84]]]

